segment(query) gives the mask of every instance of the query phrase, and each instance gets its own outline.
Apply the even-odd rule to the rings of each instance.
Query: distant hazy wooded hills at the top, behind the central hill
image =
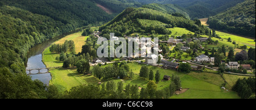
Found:
[[[147,7],[150,9],[154,8],[158,11],[167,10],[168,12],[179,9],[186,12],[191,19],[199,19],[216,15],[219,12],[223,12],[226,9],[233,7],[237,5],[237,3],[241,3],[243,1],[245,0],[96,0],[95,2],[101,4],[102,6],[108,7],[108,9],[111,9],[115,12],[122,12],[127,7]],[[158,3],[162,5],[148,5],[150,3]],[[179,13],[185,15],[183,12]]]

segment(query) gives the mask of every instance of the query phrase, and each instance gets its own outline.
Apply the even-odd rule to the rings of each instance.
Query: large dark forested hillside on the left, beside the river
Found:
[[[50,98],[48,88],[26,74],[31,46],[76,28],[114,18],[90,0],[0,1],[0,99]]]

